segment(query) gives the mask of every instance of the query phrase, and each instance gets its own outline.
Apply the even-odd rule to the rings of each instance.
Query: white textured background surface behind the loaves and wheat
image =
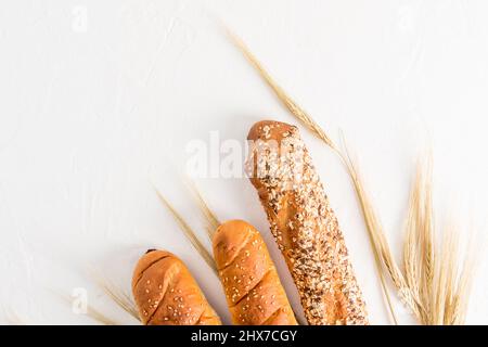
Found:
[[[344,131],[398,256],[415,158],[427,146],[437,211],[485,233],[486,1],[3,0],[0,8],[0,304],[26,322],[93,323],[55,294],[85,287],[91,305],[133,323],[87,269],[102,269],[128,290],[134,259],[154,246],[178,254],[228,319],[218,281],[151,185],[204,236],[181,184],[185,144],[208,141],[214,130],[243,141],[265,117],[293,121],[218,18],[333,137]],[[347,176],[303,134],[371,321],[387,323]],[[296,301],[251,184],[223,178],[197,184],[221,219],[243,218],[264,232]],[[471,323],[488,323],[487,286],[480,261]],[[1,310],[0,319],[7,319]],[[410,322],[406,312],[401,321]]]

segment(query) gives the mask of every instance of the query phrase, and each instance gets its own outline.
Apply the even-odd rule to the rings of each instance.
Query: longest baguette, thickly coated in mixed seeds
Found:
[[[308,323],[368,324],[343,234],[298,129],[264,120],[247,139],[246,169]]]

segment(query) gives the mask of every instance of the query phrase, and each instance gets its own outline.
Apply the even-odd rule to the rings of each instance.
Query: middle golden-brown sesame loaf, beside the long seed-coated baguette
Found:
[[[213,243],[234,324],[297,324],[268,248],[253,226],[243,220],[224,222]]]

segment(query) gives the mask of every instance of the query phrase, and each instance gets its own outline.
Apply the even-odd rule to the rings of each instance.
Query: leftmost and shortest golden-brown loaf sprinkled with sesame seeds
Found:
[[[136,266],[132,294],[145,325],[220,325],[184,264],[169,252],[150,249]]]

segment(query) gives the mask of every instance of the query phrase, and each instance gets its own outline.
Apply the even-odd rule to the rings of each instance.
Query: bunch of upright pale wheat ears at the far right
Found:
[[[428,154],[418,164],[411,191],[403,245],[406,278],[416,295],[422,324],[464,324],[477,252],[473,239],[466,249],[460,248],[461,230],[451,220],[436,237],[432,171]]]

